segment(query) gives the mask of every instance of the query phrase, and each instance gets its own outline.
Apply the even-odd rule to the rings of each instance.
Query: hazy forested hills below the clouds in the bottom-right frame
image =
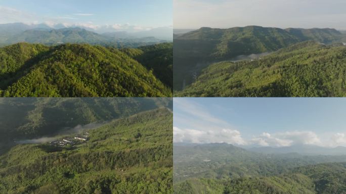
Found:
[[[174,153],[177,194],[346,192],[346,153],[344,156],[258,154],[218,143],[178,144]]]

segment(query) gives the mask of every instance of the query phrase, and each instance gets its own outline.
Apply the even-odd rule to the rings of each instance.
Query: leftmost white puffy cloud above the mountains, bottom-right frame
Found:
[[[246,144],[240,132],[233,129],[202,131],[173,127],[173,134],[174,142]]]

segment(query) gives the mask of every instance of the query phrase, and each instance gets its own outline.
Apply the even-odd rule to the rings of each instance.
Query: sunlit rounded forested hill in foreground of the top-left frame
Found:
[[[0,64],[0,96],[171,96],[142,64],[103,46],[18,43],[0,49]]]

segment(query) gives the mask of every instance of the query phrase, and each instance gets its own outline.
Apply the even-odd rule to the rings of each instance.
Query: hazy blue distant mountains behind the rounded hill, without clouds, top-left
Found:
[[[18,42],[59,45],[62,43],[88,43],[113,47],[139,47],[166,42],[155,37],[118,37],[98,34],[79,27],[52,29],[48,26],[33,28],[25,24],[0,25],[0,45]]]

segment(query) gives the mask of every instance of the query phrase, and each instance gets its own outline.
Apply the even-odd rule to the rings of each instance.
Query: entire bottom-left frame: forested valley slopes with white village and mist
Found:
[[[20,98],[0,108],[1,193],[173,192],[170,99]]]

